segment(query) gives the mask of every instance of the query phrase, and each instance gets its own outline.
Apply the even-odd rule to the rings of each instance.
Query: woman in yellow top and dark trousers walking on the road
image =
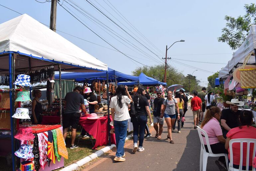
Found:
[[[175,92],[175,100],[178,102],[178,108],[176,108],[176,118],[173,125],[173,132],[175,130],[176,121],[178,121],[178,133],[181,133],[181,119],[183,117],[183,110],[184,110],[184,101],[181,98],[181,94],[179,92]]]

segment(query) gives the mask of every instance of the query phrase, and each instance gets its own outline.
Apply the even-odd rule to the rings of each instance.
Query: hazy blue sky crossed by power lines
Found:
[[[45,2],[45,0],[38,1]],[[120,42],[117,41],[116,39],[118,38],[114,35],[110,36],[106,29],[98,27],[88,18],[84,17],[74,8],[69,6],[67,2],[70,3],[70,1],[61,0],[60,3],[63,3],[62,5],[64,8],[67,9],[68,7],[70,10],[72,10],[74,14],[79,17],[79,20],[103,37],[104,40],[115,46],[123,53],[129,54],[129,56],[134,60],[148,66],[163,62],[159,58],[165,56],[166,45],[169,47],[172,43],[184,39],[185,42],[175,43],[168,50],[168,56],[173,58],[168,61],[168,64],[174,66],[177,70],[182,71],[184,75],[191,74],[196,69],[176,63],[177,61],[190,65],[191,67],[197,67],[210,72],[216,72],[220,70],[221,67],[225,66],[224,64],[206,64],[187,60],[227,63],[228,60],[231,59],[233,51],[226,43],[220,43],[217,41],[217,37],[221,36],[221,29],[225,27],[226,24],[224,21],[224,16],[228,15],[237,17],[239,15],[244,15],[244,4],[255,2],[252,0],[89,1],[100,8],[120,27],[136,38],[136,40],[153,51],[155,53],[154,54],[133,38],[128,36],[126,33],[118,29],[116,25],[103,17],[102,14],[93,8],[86,0],[76,0],[75,3],[91,16],[97,18],[100,22],[104,23],[106,26],[115,31],[119,37],[122,36],[122,39],[125,38],[137,49],[120,39]],[[110,8],[112,7],[114,9],[109,2],[154,46],[156,46],[157,49],[153,47],[151,43],[142,38],[137,32],[135,32],[135,30],[133,30],[133,28],[129,26],[122,18],[120,18],[120,16],[115,13],[116,10],[114,11]],[[5,0],[1,1],[0,4],[22,14],[26,13],[39,22],[50,25],[51,2],[39,3],[35,0]],[[19,14],[2,6],[0,6],[0,15],[2,16],[0,18],[0,23],[19,16]],[[113,48],[89,31],[84,25],[67,13],[60,5],[57,6],[56,26],[57,30],[104,46],[102,47],[88,43],[57,31],[58,34],[62,35],[70,42],[76,44],[102,62],[107,63],[112,69],[126,74],[131,74],[136,67],[142,66],[142,64],[131,61],[120,52],[108,49]],[[144,42],[142,42],[140,39]],[[141,51],[143,51],[143,53]],[[201,85],[206,86],[207,77],[211,74],[212,73],[209,72],[195,71],[193,75],[195,75],[197,79],[201,81]]]

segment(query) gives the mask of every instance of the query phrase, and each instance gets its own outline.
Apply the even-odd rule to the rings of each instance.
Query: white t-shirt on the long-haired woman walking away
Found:
[[[115,121],[125,121],[130,119],[130,115],[128,112],[128,105],[131,103],[131,99],[128,96],[122,96],[122,108],[120,108],[117,104],[117,96],[111,98],[110,108],[115,109]]]

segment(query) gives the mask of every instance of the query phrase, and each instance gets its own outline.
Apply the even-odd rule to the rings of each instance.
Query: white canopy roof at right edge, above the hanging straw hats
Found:
[[[219,71],[219,78],[226,78],[229,72],[236,66],[243,64],[247,55],[251,54],[247,64],[255,63],[255,49],[256,49],[256,27],[251,26],[251,30],[247,35],[244,43],[234,52],[233,57],[228,61],[228,64]]]

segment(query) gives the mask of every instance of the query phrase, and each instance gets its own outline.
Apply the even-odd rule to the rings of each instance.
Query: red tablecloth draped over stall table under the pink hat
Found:
[[[79,124],[83,129],[92,135],[95,139],[95,145],[92,149],[97,148],[98,146],[106,145],[108,142],[108,126],[107,126],[107,116],[101,117],[99,119],[87,119],[89,116],[80,117]],[[110,117],[112,121],[112,118]],[[113,128],[110,126],[110,128]],[[115,134],[111,133],[111,143],[116,144]]]

